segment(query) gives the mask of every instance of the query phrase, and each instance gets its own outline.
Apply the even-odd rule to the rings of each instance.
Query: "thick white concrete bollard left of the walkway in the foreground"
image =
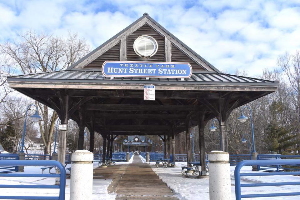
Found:
[[[70,199],[92,200],[93,158],[94,154],[87,150],[72,153]]]

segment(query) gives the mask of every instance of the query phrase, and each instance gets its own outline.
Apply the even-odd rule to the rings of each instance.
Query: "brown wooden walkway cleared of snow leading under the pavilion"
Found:
[[[116,193],[117,200],[155,199],[178,200],[173,191],[163,183],[139,155],[134,155],[133,163],[94,169],[94,178],[110,178],[109,193]]]

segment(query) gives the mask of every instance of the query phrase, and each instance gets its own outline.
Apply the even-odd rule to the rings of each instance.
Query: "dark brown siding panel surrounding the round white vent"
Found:
[[[138,54],[134,52],[133,43],[135,39],[142,35],[149,35],[153,37],[158,43],[158,50],[156,54],[150,58],[142,58]],[[152,27],[148,24],[143,25],[131,35],[127,36],[127,61],[145,61],[145,62],[164,62],[165,61],[165,40],[164,37],[155,31]]]

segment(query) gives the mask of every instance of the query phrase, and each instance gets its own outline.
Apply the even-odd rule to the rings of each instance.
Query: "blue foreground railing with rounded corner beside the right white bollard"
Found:
[[[260,166],[272,166],[272,165],[299,165],[300,159],[282,159],[282,160],[244,160],[237,163],[234,170],[234,182],[235,182],[235,199],[241,200],[241,198],[255,198],[255,197],[282,197],[282,196],[296,196],[300,195],[300,192],[287,192],[287,193],[267,193],[267,194],[241,194],[241,187],[265,187],[265,186],[283,186],[283,185],[300,185],[300,182],[279,182],[279,183],[247,183],[241,184],[241,176],[278,176],[278,175],[300,175],[300,172],[274,172],[274,173],[240,173],[243,166],[246,165],[260,165]]]

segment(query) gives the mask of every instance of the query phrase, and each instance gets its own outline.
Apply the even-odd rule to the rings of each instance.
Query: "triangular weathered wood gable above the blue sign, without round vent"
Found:
[[[142,35],[149,35],[158,43],[158,51],[152,57],[143,58],[136,54],[133,49],[134,41]],[[220,73],[151,17],[148,17],[148,14],[144,14],[139,20],[68,69],[88,68],[99,70],[104,61],[184,62],[190,63],[195,72]]]

